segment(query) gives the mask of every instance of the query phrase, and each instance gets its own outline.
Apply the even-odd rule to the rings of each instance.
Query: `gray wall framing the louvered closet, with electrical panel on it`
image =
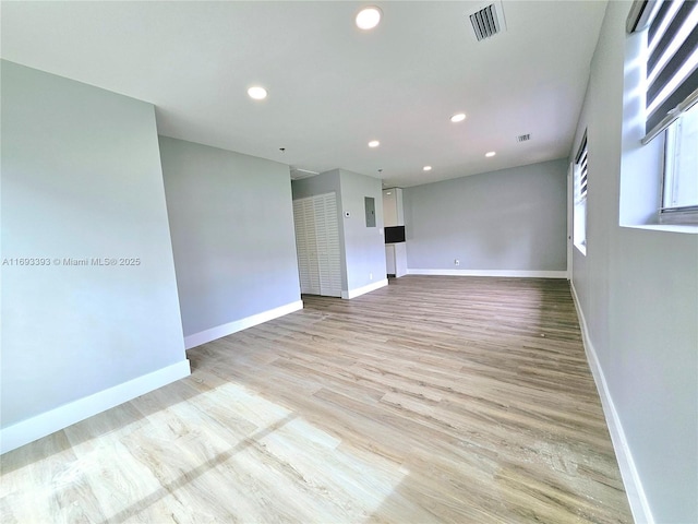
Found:
[[[351,291],[386,278],[383,190],[377,178],[344,169],[293,180],[293,200],[335,192],[341,253],[341,289]],[[366,227],[364,198],[375,199],[376,227]],[[345,217],[349,212],[349,217]]]

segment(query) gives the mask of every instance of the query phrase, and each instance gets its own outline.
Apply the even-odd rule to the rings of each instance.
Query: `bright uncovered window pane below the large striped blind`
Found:
[[[698,224],[698,106],[666,129],[661,221]]]

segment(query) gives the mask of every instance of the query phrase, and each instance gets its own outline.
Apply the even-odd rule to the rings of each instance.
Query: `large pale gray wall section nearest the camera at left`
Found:
[[[1,266],[5,428],[185,356],[154,107],[1,67],[1,257],[61,261]]]

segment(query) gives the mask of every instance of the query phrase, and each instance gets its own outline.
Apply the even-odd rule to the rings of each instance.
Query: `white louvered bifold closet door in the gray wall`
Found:
[[[301,293],[341,295],[339,227],[335,193],[293,201]]]

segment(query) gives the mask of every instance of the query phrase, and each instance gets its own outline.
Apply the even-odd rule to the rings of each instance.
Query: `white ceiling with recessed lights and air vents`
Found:
[[[1,51],[155,104],[160,134],[408,187],[570,152],[606,2],[504,0],[478,43],[489,3],[372,0],[362,32],[366,2],[2,2]]]

